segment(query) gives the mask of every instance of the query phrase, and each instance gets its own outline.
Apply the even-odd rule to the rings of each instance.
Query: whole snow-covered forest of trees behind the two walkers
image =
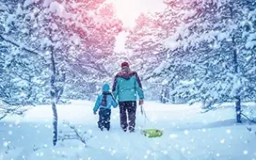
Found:
[[[105,0],[0,0],[0,119],[27,105],[94,100],[124,60],[147,100],[256,102],[256,1],[165,0],[125,28]],[[132,12],[132,9],[131,9]],[[129,33],[114,52],[118,33]]]

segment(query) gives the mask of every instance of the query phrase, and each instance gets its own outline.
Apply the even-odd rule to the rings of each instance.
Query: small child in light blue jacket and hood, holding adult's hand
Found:
[[[110,129],[111,106],[116,108],[117,105],[116,100],[110,92],[110,86],[108,84],[104,84],[102,87],[102,95],[98,96],[94,106],[94,114],[97,114],[97,111],[99,110],[99,129]]]

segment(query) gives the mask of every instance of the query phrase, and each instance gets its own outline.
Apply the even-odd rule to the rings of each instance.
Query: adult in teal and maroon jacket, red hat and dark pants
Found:
[[[127,129],[134,132],[137,95],[140,97],[139,105],[143,105],[144,94],[138,73],[130,70],[129,63],[121,63],[121,71],[115,76],[112,92],[118,100],[121,128],[124,132]]]

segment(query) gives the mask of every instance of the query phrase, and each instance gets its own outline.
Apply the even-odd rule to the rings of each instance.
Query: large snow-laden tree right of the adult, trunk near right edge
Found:
[[[255,1],[203,2],[197,7],[197,1],[188,3],[195,14],[181,17],[184,20],[165,40],[169,58],[151,76],[175,83],[171,95],[190,103],[207,101],[206,109],[236,101],[241,122],[241,100],[255,97]]]

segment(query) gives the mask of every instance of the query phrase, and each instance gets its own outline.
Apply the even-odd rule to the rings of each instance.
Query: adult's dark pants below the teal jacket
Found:
[[[134,131],[136,120],[136,101],[119,102],[121,128],[124,131]],[[128,115],[128,117],[127,117]]]

